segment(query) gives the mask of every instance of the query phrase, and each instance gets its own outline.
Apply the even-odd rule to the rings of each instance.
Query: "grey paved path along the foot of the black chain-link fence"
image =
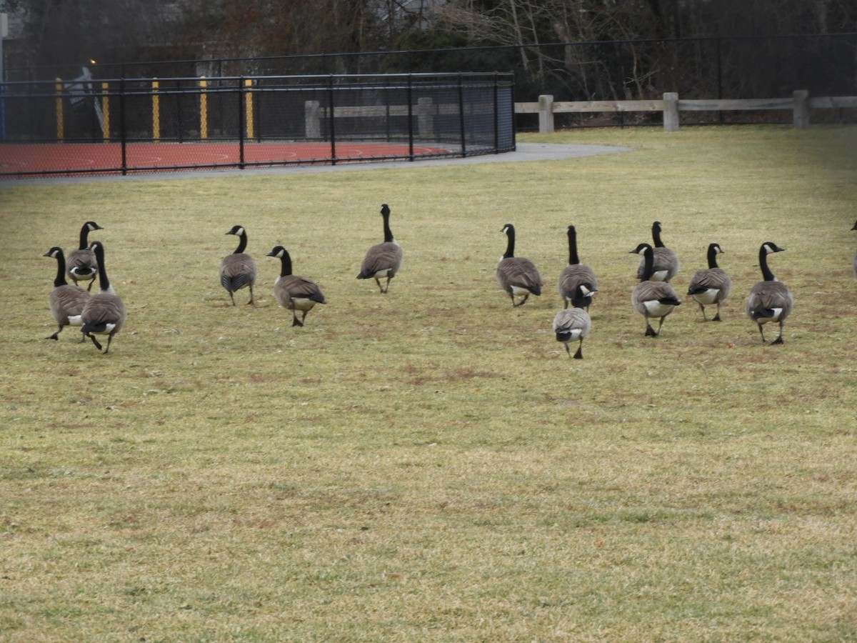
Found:
[[[564,143],[518,143],[514,152],[501,154],[481,154],[462,158],[421,159],[416,161],[365,161],[339,163],[337,165],[281,165],[276,167],[248,167],[244,170],[191,170],[141,172],[127,176],[117,174],[96,174],[89,177],[40,177],[40,178],[0,178],[0,189],[19,185],[58,185],[69,183],[162,181],[175,178],[204,178],[255,176],[269,174],[308,174],[318,172],[388,170],[400,167],[434,167],[437,165],[474,165],[476,163],[520,163],[533,160],[576,159],[598,154],[630,152],[631,147],[613,147],[606,145],[572,145]]]

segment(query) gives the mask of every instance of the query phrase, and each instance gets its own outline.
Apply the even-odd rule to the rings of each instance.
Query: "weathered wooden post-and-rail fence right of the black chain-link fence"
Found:
[[[680,100],[677,93],[665,93],[660,100],[578,100],[554,101],[553,96],[538,97],[537,103],[515,103],[516,114],[538,114],[538,130],[554,131],[554,114],[662,111],[663,129],[674,132],[679,129],[681,111],[756,111],[789,110],[794,114],[794,127],[806,129],[810,123],[810,112],[819,109],[841,109],[857,107],[857,96],[824,96],[811,98],[809,92],[800,89],[788,99],[711,99]]]

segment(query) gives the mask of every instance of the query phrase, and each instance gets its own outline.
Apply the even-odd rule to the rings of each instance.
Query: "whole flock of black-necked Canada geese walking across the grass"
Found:
[[[384,224],[384,241],[369,248],[363,258],[363,264],[357,279],[375,279],[381,293],[390,288],[390,280],[399,273],[404,254],[399,242],[390,230],[390,207],[381,205],[381,217]],[[111,340],[123,327],[126,319],[125,306],[117,297],[107,277],[105,268],[104,245],[98,241],[88,243],[89,233],[103,230],[94,221],[87,221],[81,227],[78,249],[66,257],[63,249],[54,246],[45,254],[57,260],[57,277],[49,297],[51,313],[58,328],[49,340],[58,340],[66,326],[81,327],[81,342],[87,338],[105,354],[109,352]],[[857,231],[857,223],[852,230]],[[496,278],[500,287],[512,300],[512,306],[524,305],[530,295],[542,294],[544,281],[536,265],[526,257],[515,255],[515,227],[506,224],[502,231],[506,234],[506,252],[500,257],[496,268]],[[652,243],[640,243],[632,249],[632,254],[640,255],[637,279],[631,295],[631,303],[645,320],[645,335],[657,337],[661,334],[664,320],[680,305],[678,294],[670,285],[679,272],[680,261],[672,249],[662,242],[662,226],[655,221],[651,226]],[[238,246],[231,255],[220,262],[220,284],[229,293],[232,305],[235,305],[235,293],[248,288],[249,304],[255,305],[253,286],[258,267],[252,256],[248,255],[247,231],[242,225],[235,225],[226,234],[239,238]],[[563,309],[554,317],[553,330],[556,340],[564,344],[569,357],[583,358],[583,341],[590,333],[592,322],[589,315],[590,303],[598,291],[596,274],[591,267],[580,262],[578,257],[577,231],[573,225],[567,229],[568,265],[563,268],[557,282],[557,290],[563,301]],[[782,330],[794,305],[794,297],[788,287],[779,281],[768,266],[768,255],[782,252],[776,243],[766,241],[758,250],[758,265],[762,271],[762,280],[752,286],[746,298],[746,315],[756,322],[759,334],[764,339],[764,325],[776,322],[779,334],[771,344],[782,344]],[[732,290],[732,279],[717,265],[717,255],[722,249],[717,243],[708,247],[708,267],[697,270],[690,281],[687,296],[698,303],[705,321],[708,321],[705,307],[716,306],[716,314],[711,318],[719,322],[720,308]],[[274,296],[281,306],[292,312],[292,326],[303,326],[307,313],[316,303],[327,303],[319,286],[301,275],[292,273],[291,256],[283,246],[275,246],[267,256],[280,260],[280,274],[274,283]],[[854,275],[857,276],[857,255],[854,256]],[[95,278],[99,278],[99,291],[91,294]],[[68,279],[74,281],[69,285]],[[381,279],[386,279],[381,284]],[[89,282],[84,289],[80,282]],[[516,298],[517,297],[517,298]],[[297,318],[297,311],[301,318]],[[657,329],[652,321],[657,320]],[[102,346],[96,335],[107,336],[107,346]],[[577,351],[572,355],[569,344],[578,342]]]

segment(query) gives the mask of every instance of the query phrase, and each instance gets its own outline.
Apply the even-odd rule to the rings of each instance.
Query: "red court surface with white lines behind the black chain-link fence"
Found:
[[[389,143],[337,143],[336,158],[329,143],[244,143],[247,165],[330,164],[344,161],[407,159],[407,145]],[[437,147],[414,147],[414,156],[450,153]],[[238,143],[128,143],[126,171],[236,167],[241,163]],[[0,177],[27,174],[120,173],[119,143],[4,143],[0,144]]]

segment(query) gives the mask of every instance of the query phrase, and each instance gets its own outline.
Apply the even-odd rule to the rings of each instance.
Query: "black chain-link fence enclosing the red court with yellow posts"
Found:
[[[81,69],[73,81],[12,82],[5,90],[0,176],[7,177],[413,160],[515,147],[510,74],[100,80]],[[185,143],[207,145],[177,145]]]

